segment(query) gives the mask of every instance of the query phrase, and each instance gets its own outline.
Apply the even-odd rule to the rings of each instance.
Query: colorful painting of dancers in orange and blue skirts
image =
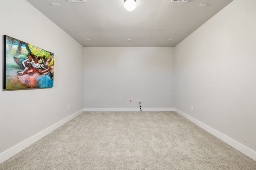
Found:
[[[4,35],[4,89],[53,87],[53,63],[53,53]]]

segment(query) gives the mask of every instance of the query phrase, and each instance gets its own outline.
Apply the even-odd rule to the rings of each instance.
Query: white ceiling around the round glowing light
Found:
[[[84,47],[175,47],[232,2],[136,0],[136,9],[127,11],[124,0],[27,1]]]

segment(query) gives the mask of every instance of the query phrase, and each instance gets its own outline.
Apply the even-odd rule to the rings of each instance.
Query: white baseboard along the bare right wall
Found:
[[[241,143],[239,143],[239,142],[235,141],[234,139],[224,135],[223,133],[217,131],[216,129],[213,129],[212,127],[198,121],[194,117],[191,117],[190,115],[187,115],[186,113],[180,111],[179,109],[175,108],[174,111],[176,111],[177,113],[179,113],[180,115],[182,115],[186,119],[192,121],[193,123],[195,123],[196,125],[198,125],[202,129],[208,131],[209,133],[211,133],[215,137],[219,138],[220,140],[224,141],[228,145],[234,147],[235,149],[239,150],[240,152],[242,152],[246,156],[248,156],[248,157],[250,157],[250,158],[252,158],[253,160],[256,161],[256,152],[254,150],[242,145]]]

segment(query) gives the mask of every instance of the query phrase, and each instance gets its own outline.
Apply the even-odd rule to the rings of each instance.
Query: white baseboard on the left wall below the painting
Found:
[[[84,109],[81,109],[81,110],[77,111],[76,113],[66,117],[65,119],[59,121],[58,123],[55,123],[54,125],[46,128],[46,129],[44,129],[43,131],[37,133],[36,135],[26,139],[25,141],[22,141],[18,145],[16,145],[16,146],[14,146],[14,147],[12,147],[12,148],[2,152],[0,154],[0,163],[4,162],[5,160],[7,160],[10,157],[12,157],[15,154],[17,154],[18,152],[20,152],[23,149],[27,148],[28,146],[32,145],[33,143],[35,143],[36,141],[38,141],[42,137],[48,135],[49,133],[51,133],[52,131],[57,129],[58,127],[64,125],[64,123],[67,123],[68,121],[70,121],[71,119],[73,119],[74,117],[76,117],[77,115],[82,113],[83,111],[84,111]]]

